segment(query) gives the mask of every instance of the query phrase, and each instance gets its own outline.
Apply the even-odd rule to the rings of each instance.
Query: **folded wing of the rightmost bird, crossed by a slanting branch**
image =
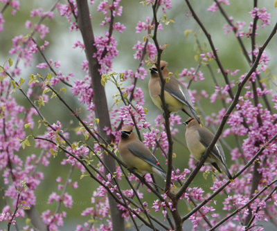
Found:
[[[211,141],[213,140],[213,133],[211,133],[210,130],[204,128],[204,127],[199,127],[198,129],[199,137],[200,137],[200,142],[202,145],[205,147],[208,147],[210,145]],[[218,160],[220,160],[222,163],[226,163],[224,151],[222,149],[222,146],[220,145],[220,142],[216,142],[215,146],[213,147],[211,154],[215,156]]]

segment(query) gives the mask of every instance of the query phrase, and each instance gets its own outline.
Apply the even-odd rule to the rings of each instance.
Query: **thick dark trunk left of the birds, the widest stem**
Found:
[[[91,20],[89,15],[89,6],[86,0],[78,0],[78,27],[82,33],[82,38],[84,41],[85,53],[87,55],[87,60],[89,62],[89,73],[92,79],[93,88],[93,102],[96,107],[96,118],[99,120],[100,134],[107,140],[111,142],[111,136],[107,136],[107,133],[103,131],[105,127],[111,128],[111,122],[109,120],[109,111],[107,107],[107,98],[105,94],[105,89],[101,84],[101,75],[99,73],[100,65],[96,57],[93,54],[97,52],[96,46],[94,46],[94,35],[91,26]],[[116,164],[114,159],[104,154],[104,162],[107,167],[109,167],[110,172],[116,172]],[[108,173],[105,169],[105,174]],[[113,225],[113,230],[124,230],[124,219],[121,216],[120,210],[116,206],[116,201],[111,198],[111,194],[108,194],[109,198],[109,208],[111,210],[111,221]]]

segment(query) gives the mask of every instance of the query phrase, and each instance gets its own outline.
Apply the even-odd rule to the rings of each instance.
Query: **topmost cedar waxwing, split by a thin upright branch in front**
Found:
[[[169,73],[168,68],[166,68],[167,64],[168,63],[166,61],[161,61],[160,64],[164,80],[166,80],[166,77],[168,77]],[[150,71],[151,77],[148,82],[149,93],[154,104],[159,107],[159,109],[161,109],[161,80],[159,77],[157,66],[153,65],[152,68],[150,68]],[[195,118],[200,124],[200,121],[198,120],[198,117],[195,113],[195,109],[193,109],[193,104],[191,103],[188,89],[186,89],[186,86],[181,84],[181,82],[179,82],[179,80],[177,80],[177,78],[175,78],[174,76],[171,76],[170,80],[166,82],[164,96],[166,100],[166,105],[170,112],[180,110],[184,111],[184,113],[186,113],[190,117]]]

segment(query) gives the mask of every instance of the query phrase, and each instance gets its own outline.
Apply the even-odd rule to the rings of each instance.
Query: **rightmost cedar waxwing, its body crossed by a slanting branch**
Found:
[[[194,118],[188,118],[184,124],[186,124],[186,143],[188,150],[193,154],[195,160],[199,161],[213,140],[214,135],[206,127],[201,127]],[[226,165],[225,154],[219,141],[215,143],[211,154],[205,160],[205,164],[213,165],[218,172],[221,172],[220,169],[222,169],[228,178],[232,180],[232,176]]]

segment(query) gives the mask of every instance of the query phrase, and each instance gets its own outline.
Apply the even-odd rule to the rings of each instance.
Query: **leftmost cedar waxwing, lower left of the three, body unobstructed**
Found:
[[[159,165],[159,161],[152,152],[134,134],[133,126],[123,127],[118,143],[119,154],[129,169],[141,174],[157,173],[166,178],[166,172]]]

